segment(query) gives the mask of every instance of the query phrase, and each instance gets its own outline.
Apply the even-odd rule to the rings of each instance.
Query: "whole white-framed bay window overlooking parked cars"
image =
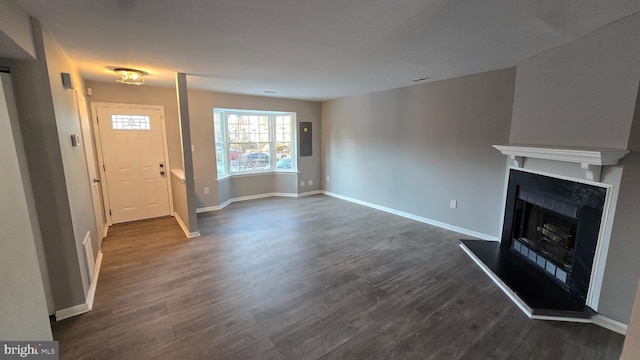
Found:
[[[296,113],[213,109],[218,178],[295,171]]]

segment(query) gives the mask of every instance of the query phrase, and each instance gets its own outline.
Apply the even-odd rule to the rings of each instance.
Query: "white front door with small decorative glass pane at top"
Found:
[[[95,109],[111,223],[170,215],[161,109]]]

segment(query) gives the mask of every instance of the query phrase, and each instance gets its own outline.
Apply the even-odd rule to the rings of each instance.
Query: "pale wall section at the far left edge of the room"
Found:
[[[17,120],[12,84],[9,75],[0,76],[0,339],[52,340],[36,245],[41,239],[28,204],[31,183],[23,177],[22,141],[14,140],[21,138],[19,128],[10,122]]]

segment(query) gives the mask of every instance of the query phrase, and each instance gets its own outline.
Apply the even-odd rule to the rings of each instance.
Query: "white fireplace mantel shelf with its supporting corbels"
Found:
[[[493,145],[509,156],[516,167],[522,167],[524,158],[578,163],[585,172],[585,179],[600,181],[600,172],[606,165],[616,165],[629,153],[624,149],[567,148],[534,145]]]

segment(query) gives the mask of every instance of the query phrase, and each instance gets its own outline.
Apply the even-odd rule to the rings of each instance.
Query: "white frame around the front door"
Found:
[[[123,110],[126,109],[144,109],[144,110],[157,110],[160,112],[160,123],[162,125],[162,145],[164,146],[164,162],[166,164],[166,181],[167,181],[167,196],[169,196],[169,215],[173,216],[173,191],[171,190],[171,164],[169,164],[169,148],[167,146],[167,127],[164,119],[164,106],[162,105],[142,105],[142,104],[122,104],[122,103],[106,103],[106,102],[91,102],[91,118],[94,121],[94,136],[96,139],[96,151],[98,153],[98,170],[100,171],[100,178],[103,181],[100,182],[100,186],[102,187],[102,199],[104,204],[104,213],[107,218],[107,225],[113,225],[113,221],[111,220],[109,214],[109,209],[111,209],[111,203],[109,202],[109,189],[107,188],[107,177],[104,173],[104,157],[102,154],[102,141],[100,139],[100,126],[98,125],[98,108],[99,107],[108,107],[108,108],[121,108]],[[104,121],[104,120],[103,120]]]

